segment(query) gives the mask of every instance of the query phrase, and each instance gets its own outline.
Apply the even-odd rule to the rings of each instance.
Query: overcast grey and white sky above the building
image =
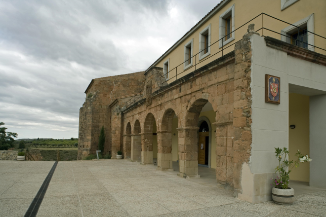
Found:
[[[1,0],[0,122],[77,138],[92,78],[146,70],[220,0]]]

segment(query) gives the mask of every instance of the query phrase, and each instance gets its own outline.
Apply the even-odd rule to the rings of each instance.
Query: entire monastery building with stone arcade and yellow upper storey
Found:
[[[325,11],[326,0],[221,1],[145,72],[91,80],[78,159],[104,126],[104,154],[178,163],[180,178],[214,168],[251,203],[272,199],[275,147],[313,159],[291,180],[326,187]]]

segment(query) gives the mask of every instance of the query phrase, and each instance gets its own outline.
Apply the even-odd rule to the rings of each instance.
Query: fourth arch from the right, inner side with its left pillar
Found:
[[[131,134],[131,161],[139,162],[141,160],[141,128],[138,119],[135,120]]]

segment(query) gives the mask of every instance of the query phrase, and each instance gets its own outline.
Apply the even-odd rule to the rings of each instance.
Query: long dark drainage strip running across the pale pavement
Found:
[[[45,180],[43,181],[43,183],[41,185],[39,192],[36,194],[35,198],[33,199],[32,203],[31,203],[30,207],[28,208],[24,217],[36,217],[36,215],[38,214],[42,200],[46,193],[47,187],[49,186],[49,183],[52,179],[52,176],[55,171],[55,168],[57,167],[57,164],[58,164],[58,161],[55,161],[49,174],[47,174]]]

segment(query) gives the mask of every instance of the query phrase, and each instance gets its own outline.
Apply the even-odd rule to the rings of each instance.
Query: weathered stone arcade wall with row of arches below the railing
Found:
[[[178,176],[198,177],[198,119],[204,105],[210,102],[216,112],[216,122],[213,123],[217,144],[216,179],[241,191],[241,166],[249,161],[251,150],[250,66],[250,41],[245,39],[236,44],[234,52],[169,85],[159,85],[160,88],[157,88],[157,84],[153,84],[153,76],[157,75],[148,76],[152,83],[146,77],[146,99],[123,111],[123,125],[131,125],[131,150],[134,137],[141,135],[142,164],[151,163],[147,156],[151,155],[150,134],[155,119],[158,125],[158,166],[161,170],[171,169],[170,125],[175,114],[179,132]],[[135,132],[137,121],[141,126],[140,134]],[[123,130],[127,131],[126,128]]]

